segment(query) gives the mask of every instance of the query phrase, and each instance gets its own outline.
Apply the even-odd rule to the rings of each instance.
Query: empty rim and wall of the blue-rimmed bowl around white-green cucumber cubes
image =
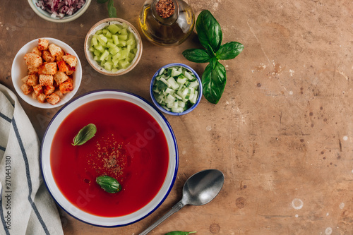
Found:
[[[186,109],[184,112],[172,112],[169,111],[167,109],[164,109],[164,107],[162,107],[156,100],[155,97],[155,92],[153,92],[153,85],[155,85],[155,80],[157,78],[157,76],[159,76],[160,71],[164,68],[169,68],[169,67],[173,67],[173,66],[181,66],[183,68],[186,68],[187,70],[189,70],[191,73],[193,73],[193,75],[196,77],[197,81],[198,81],[198,97],[196,99],[196,103],[193,104],[191,107],[189,107],[189,109]],[[164,114],[169,114],[169,115],[174,115],[174,116],[181,116],[184,114],[189,114],[189,112],[193,111],[193,109],[195,109],[198,104],[201,101],[201,97],[202,97],[202,83],[201,83],[201,79],[198,76],[198,74],[196,73],[196,71],[193,70],[193,68],[191,68],[190,66],[187,66],[186,64],[181,64],[181,63],[172,63],[172,64],[166,64],[165,66],[162,66],[160,69],[158,69],[157,72],[155,72],[155,75],[152,77],[151,83],[150,83],[150,96],[152,98],[152,102],[153,104],[155,104],[155,106],[160,109],[161,112],[164,112]]]

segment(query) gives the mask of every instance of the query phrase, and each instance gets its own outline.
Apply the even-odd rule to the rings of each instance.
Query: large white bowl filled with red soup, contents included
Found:
[[[92,124],[94,133],[81,131]],[[78,139],[85,141],[76,145]],[[142,97],[119,90],[89,92],[60,109],[44,134],[40,159],[56,203],[102,227],[132,224],[156,210],[179,162],[167,119]],[[114,185],[104,188],[98,177],[114,179],[119,191],[107,191]]]

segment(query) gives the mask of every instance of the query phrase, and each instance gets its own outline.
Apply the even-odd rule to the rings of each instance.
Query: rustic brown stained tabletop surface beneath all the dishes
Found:
[[[120,18],[138,27],[143,1],[114,4]],[[59,210],[65,234],[138,234],[177,203],[191,174],[208,168],[225,173],[217,198],[184,207],[151,234],[353,234],[352,2],[193,0],[191,6],[196,16],[210,10],[223,42],[241,42],[245,49],[222,61],[227,85],[217,105],[203,99],[186,116],[167,116],[180,154],[172,192],[152,215],[121,228],[92,227]],[[95,72],[83,42],[107,16],[96,1],[71,23],[42,20],[27,1],[1,4],[0,83],[14,90],[13,58],[38,37],[63,40],[76,50],[83,64],[77,95],[117,88],[150,100],[150,78],[160,66],[181,62],[202,74],[206,64],[181,55],[200,47],[196,33],[173,48],[143,38],[143,56],[133,71],[117,78]],[[21,104],[42,138],[59,108]]]

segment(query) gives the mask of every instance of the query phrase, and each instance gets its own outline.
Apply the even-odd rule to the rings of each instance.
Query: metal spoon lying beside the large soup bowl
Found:
[[[160,217],[160,219],[148,227],[148,229],[145,229],[140,235],[148,234],[167,219],[167,217],[178,212],[184,205],[205,205],[206,203],[210,203],[220,193],[224,181],[225,176],[222,171],[217,169],[207,169],[193,174],[184,184],[183,197],[179,203],[174,205],[172,210],[169,210],[169,212]]]

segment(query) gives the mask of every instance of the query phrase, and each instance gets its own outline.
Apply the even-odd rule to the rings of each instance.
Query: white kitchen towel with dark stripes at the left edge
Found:
[[[32,123],[16,95],[0,84],[0,234],[64,234],[39,156]]]

